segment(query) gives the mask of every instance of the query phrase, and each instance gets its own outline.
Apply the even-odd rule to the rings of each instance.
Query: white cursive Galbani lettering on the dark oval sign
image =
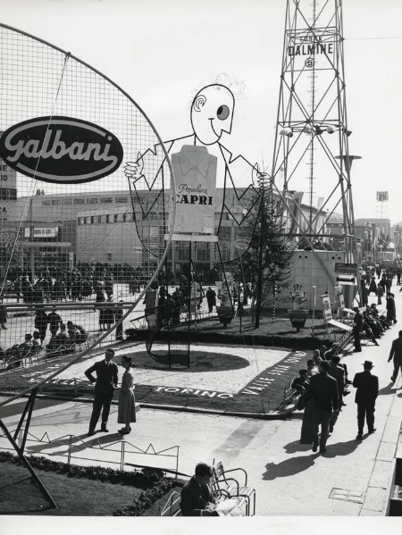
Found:
[[[17,162],[22,155],[28,158],[54,158],[60,160],[64,156],[69,156],[71,160],[90,160],[93,158],[96,161],[103,160],[104,162],[117,163],[117,157],[109,155],[110,143],[101,146],[100,143],[80,143],[75,141],[71,146],[62,140],[63,131],[49,129],[46,131],[46,136],[43,142],[40,139],[29,139],[24,142],[22,139],[13,145],[13,136],[9,134],[4,141],[4,146],[7,150],[14,153],[13,156],[8,157],[8,162]],[[52,139],[53,137],[53,139]],[[108,141],[112,141],[109,136]]]

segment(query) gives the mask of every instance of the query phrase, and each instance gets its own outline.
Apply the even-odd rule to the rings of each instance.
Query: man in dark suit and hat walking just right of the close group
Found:
[[[364,361],[364,372],[356,373],[353,386],[356,388],[355,401],[357,404],[357,440],[363,437],[364,419],[367,420],[369,434],[375,431],[374,411],[375,400],[378,396],[378,377],[372,375],[372,361]]]

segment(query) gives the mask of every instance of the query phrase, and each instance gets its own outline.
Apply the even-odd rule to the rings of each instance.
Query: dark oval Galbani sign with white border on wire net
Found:
[[[0,155],[15,171],[45,182],[102,179],[121,165],[121,142],[111,132],[71,117],[37,117],[0,138]]]

